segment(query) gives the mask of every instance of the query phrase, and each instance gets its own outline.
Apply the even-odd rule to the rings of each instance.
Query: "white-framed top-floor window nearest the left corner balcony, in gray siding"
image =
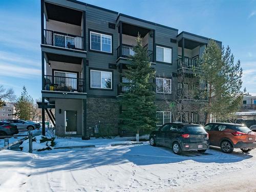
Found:
[[[112,36],[96,32],[90,32],[91,50],[112,53]]]

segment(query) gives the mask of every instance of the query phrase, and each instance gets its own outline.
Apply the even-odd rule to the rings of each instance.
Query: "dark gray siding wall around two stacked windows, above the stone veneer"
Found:
[[[87,60],[89,61],[89,66],[87,67],[87,93],[88,95],[108,95],[108,96],[116,96],[117,95],[117,83],[119,81],[119,76],[117,70],[113,70],[114,73],[114,80],[112,83],[113,91],[107,90],[93,90],[90,89],[90,79],[89,79],[89,68],[96,68],[96,69],[109,69],[109,63],[116,63],[117,57],[117,37],[118,37],[118,29],[110,29],[109,23],[116,23],[117,14],[111,13],[108,11],[96,9],[93,7],[87,7],[86,10],[86,50],[87,53]],[[104,33],[113,34],[113,54],[104,54],[104,53],[96,53],[89,51],[89,38],[90,33],[89,29],[101,31]]]

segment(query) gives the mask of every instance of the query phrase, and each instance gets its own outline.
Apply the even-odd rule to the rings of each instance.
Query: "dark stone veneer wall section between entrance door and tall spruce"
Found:
[[[99,129],[110,129],[118,135],[119,104],[114,98],[87,98],[87,129],[88,133],[99,124]],[[100,123],[99,123],[100,121]]]

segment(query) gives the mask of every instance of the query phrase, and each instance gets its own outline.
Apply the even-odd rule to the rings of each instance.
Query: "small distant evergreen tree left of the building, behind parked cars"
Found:
[[[16,116],[19,119],[30,120],[33,112],[33,99],[28,95],[27,89],[23,86],[22,95],[16,102]]]

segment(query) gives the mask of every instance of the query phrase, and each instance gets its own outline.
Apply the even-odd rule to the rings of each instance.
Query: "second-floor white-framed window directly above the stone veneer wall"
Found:
[[[91,70],[91,88],[112,89],[112,72]]]

